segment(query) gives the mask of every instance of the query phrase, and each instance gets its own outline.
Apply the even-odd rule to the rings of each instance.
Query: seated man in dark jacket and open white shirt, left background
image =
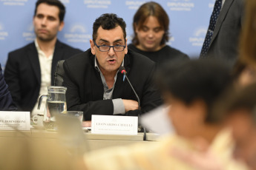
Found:
[[[4,78],[19,110],[33,110],[42,89],[53,84],[53,74],[59,60],[82,52],[56,38],[64,26],[64,15],[65,7],[60,1],[37,1],[33,17],[35,42],[8,55]]]

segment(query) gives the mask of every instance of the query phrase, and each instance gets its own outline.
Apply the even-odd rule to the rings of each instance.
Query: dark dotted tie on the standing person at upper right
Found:
[[[203,47],[202,47],[202,50],[201,50],[201,53],[200,53],[200,58],[206,57],[206,54],[209,50],[209,45],[211,43],[211,36],[214,33],[214,28],[215,28],[215,25],[216,25],[217,18],[220,14],[221,5],[222,5],[222,0],[216,0],[215,1],[214,10],[211,13],[210,24],[209,24],[209,28],[208,28],[208,31],[207,31],[207,34],[206,34],[206,39],[203,42]]]

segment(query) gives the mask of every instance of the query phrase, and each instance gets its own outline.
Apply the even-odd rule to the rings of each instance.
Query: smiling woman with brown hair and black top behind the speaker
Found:
[[[128,49],[145,55],[158,67],[168,60],[188,59],[188,55],[166,44],[169,40],[169,18],[157,2],[142,4],[134,15],[133,27],[134,38]]]

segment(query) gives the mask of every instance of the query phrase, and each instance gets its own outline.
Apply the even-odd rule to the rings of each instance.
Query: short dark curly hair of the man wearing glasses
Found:
[[[93,41],[96,41],[99,27],[102,27],[104,30],[112,30],[118,26],[122,28],[124,38],[126,38],[125,21],[122,18],[116,16],[116,14],[114,13],[102,14],[102,16],[96,18],[96,20],[93,23]]]

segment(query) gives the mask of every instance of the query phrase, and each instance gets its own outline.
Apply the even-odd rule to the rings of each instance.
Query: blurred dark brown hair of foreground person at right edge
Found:
[[[250,84],[243,89],[232,89],[226,94],[220,109],[220,116],[232,115],[236,110],[247,110],[252,114],[253,121],[256,123],[256,84]]]

